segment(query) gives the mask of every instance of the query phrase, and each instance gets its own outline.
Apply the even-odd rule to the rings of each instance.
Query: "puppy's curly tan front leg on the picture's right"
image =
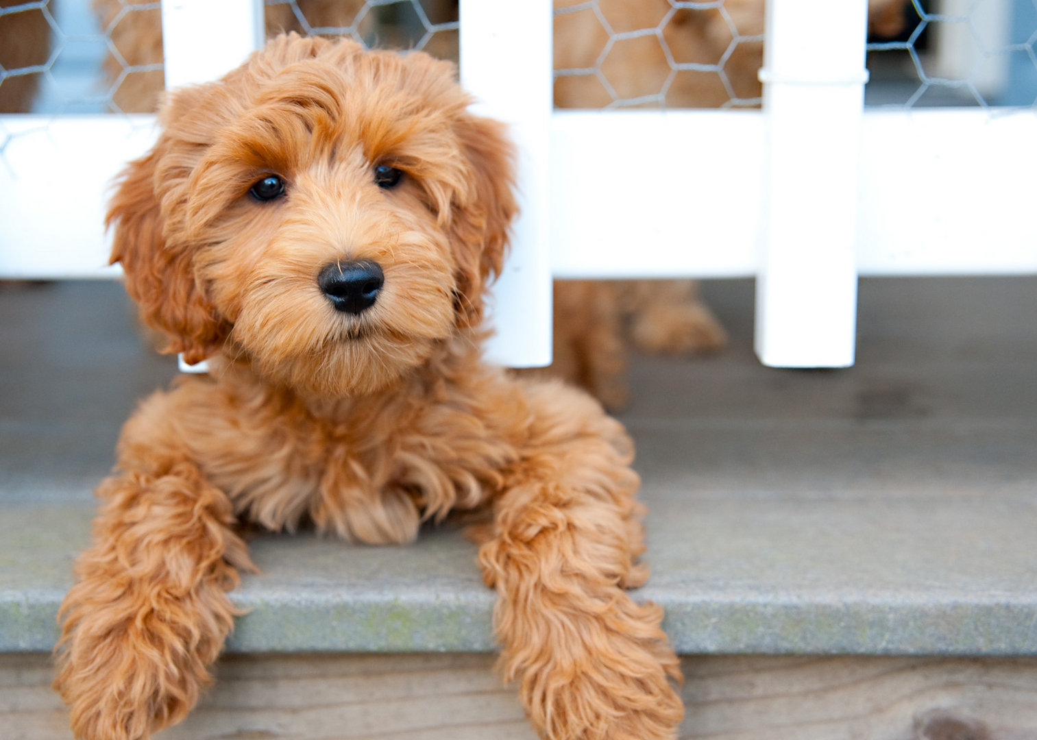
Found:
[[[629,442],[589,399],[544,389],[479,551],[499,594],[505,680],[521,677],[526,710],[549,740],[672,738],[683,709],[663,611],[623,591],[646,577],[634,563],[644,548]]]

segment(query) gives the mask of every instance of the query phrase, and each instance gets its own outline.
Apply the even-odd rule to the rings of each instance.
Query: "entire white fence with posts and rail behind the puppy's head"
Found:
[[[167,86],[261,39],[261,0],[162,10]],[[522,149],[494,358],[550,361],[552,276],[755,276],[761,361],[839,367],[859,275],[1037,273],[1034,109],[865,110],[866,13],[768,0],[760,111],[554,111],[551,0],[461,0],[461,81]],[[115,274],[107,186],[155,136],[151,116],[0,116],[0,277]]]

